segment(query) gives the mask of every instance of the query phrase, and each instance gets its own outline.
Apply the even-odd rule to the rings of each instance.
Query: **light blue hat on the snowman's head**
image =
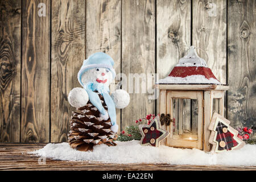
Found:
[[[82,63],[82,67],[80,68],[80,71],[77,74],[77,79],[79,80],[79,83],[82,84],[81,78],[82,75],[92,68],[108,68],[110,72],[112,73],[113,79],[115,78],[115,70],[113,68],[114,60],[112,57],[107,55],[104,52],[96,52],[93,55],[90,55],[88,59],[84,60],[84,63]]]

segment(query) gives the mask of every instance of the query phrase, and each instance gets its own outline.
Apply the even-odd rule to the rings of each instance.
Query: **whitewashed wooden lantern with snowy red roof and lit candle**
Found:
[[[170,132],[164,144],[210,151],[210,119],[214,112],[224,115],[224,92],[229,86],[217,80],[195,47],[191,47],[155,87],[160,90],[162,129]]]

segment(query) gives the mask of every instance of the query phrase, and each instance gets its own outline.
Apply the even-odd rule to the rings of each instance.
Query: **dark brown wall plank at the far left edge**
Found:
[[[20,139],[21,6],[0,2],[0,142]]]

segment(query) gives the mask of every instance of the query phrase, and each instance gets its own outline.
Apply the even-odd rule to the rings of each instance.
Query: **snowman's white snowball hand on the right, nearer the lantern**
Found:
[[[117,109],[123,109],[127,105],[129,105],[130,95],[125,90],[122,90],[122,89],[115,90],[115,92],[112,93],[111,97]]]

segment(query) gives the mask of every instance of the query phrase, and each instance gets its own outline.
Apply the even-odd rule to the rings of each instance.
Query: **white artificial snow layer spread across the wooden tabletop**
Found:
[[[166,163],[190,165],[256,166],[256,145],[246,144],[240,150],[218,154],[198,149],[181,149],[167,146],[141,146],[138,140],[94,146],[93,152],[74,150],[68,143],[49,143],[44,148],[29,152],[55,160],[88,161],[103,163]]]

